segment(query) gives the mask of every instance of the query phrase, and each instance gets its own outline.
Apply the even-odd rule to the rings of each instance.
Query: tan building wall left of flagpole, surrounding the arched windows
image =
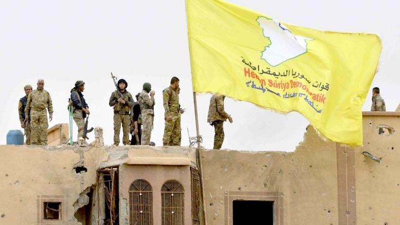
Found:
[[[147,176],[152,176],[153,180],[148,178],[152,183],[156,183],[154,180],[162,184],[164,179],[177,179],[184,185],[188,200],[185,202],[185,223],[191,220],[190,167],[196,164],[192,148],[8,145],[0,146],[0,152],[0,224],[89,225],[104,222],[104,217],[100,218],[97,210],[105,204],[104,197],[98,196],[98,193],[104,194],[104,190],[98,188],[97,173],[104,168],[123,168],[118,171],[121,173],[117,173],[121,190],[126,192],[119,194],[121,202],[125,202],[125,209],[120,209],[119,224],[128,224],[128,192],[125,186],[133,181],[132,172],[149,168],[149,165],[157,170],[169,168],[163,173],[165,177],[157,171],[148,171]],[[157,175],[158,178],[155,177]],[[97,202],[98,199],[103,202]],[[54,209],[57,207],[54,202],[60,203],[59,208]],[[159,202],[155,204],[160,206]],[[49,219],[54,213],[57,219]]]

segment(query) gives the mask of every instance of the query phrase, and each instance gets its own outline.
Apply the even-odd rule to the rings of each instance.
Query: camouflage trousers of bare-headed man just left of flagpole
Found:
[[[171,114],[172,120],[165,121],[164,136],[162,145],[180,146],[181,145],[181,114]]]

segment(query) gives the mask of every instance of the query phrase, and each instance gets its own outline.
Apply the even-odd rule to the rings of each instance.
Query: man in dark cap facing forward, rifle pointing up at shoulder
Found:
[[[122,125],[122,143],[123,145],[129,145],[129,125],[130,116],[129,112],[133,107],[134,100],[131,93],[127,91],[128,83],[124,79],[119,79],[118,82],[119,92],[122,97],[120,97],[118,91],[111,93],[109,105],[114,109],[114,145],[119,145],[119,133],[121,131]]]

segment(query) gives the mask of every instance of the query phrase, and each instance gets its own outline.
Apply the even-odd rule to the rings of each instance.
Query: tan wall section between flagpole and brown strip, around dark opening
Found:
[[[296,152],[203,150],[201,168],[208,225],[233,224],[236,199],[275,201],[277,225],[338,224],[336,145],[312,128]]]

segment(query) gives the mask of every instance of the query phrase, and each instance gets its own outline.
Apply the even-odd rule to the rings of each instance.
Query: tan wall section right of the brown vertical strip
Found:
[[[359,224],[400,224],[400,112],[364,112],[364,147],[355,149],[356,219]],[[379,127],[388,127],[379,134]],[[369,152],[381,163],[363,155]]]

